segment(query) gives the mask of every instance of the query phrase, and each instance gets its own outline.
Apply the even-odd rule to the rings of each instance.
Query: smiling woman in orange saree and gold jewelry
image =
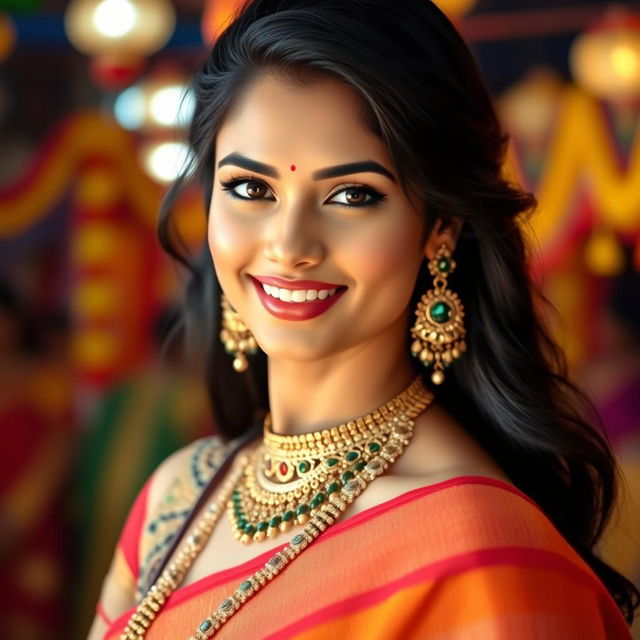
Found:
[[[221,435],[143,489],[91,638],[630,637],[638,592],[594,552],[615,462],[448,20],[256,0],[194,87],[208,247],[171,235],[183,180],[160,236]]]

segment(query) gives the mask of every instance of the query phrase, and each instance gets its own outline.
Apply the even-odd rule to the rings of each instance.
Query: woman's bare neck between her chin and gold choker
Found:
[[[415,377],[403,331],[320,361],[269,358],[272,430],[299,435],[363,416]],[[384,339],[383,339],[384,338]]]

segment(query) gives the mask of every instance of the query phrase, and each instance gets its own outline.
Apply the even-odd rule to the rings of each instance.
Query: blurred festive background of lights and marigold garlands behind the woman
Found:
[[[133,497],[215,430],[179,345],[161,353],[184,274],[155,221],[189,154],[187,78],[235,4],[0,0],[3,640],[84,638]],[[438,4],[540,201],[531,268],[626,477],[602,553],[638,582],[640,2]],[[199,194],[179,208],[196,248]]]

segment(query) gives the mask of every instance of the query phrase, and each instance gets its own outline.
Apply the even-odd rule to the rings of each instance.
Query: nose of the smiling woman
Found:
[[[325,246],[316,226],[301,206],[275,212],[267,229],[265,257],[287,269],[309,269],[319,264]]]

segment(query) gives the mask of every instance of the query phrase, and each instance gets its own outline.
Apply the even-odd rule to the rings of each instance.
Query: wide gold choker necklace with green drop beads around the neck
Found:
[[[275,538],[305,524],[329,496],[361,471],[379,451],[393,451],[394,437],[409,442],[413,418],[431,394],[417,376],[400,394],[362,418],[304,435],[279,435],[264,424],[256,449],[227,503],[236,540]]]

